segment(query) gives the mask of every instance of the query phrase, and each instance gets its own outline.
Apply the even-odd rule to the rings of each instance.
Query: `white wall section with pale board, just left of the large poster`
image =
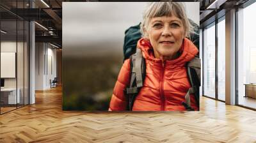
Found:
[[[49,43],[36,43],[35,53],[35,89],[51,88],[50,79],[56,77],[56,49]],[[51,72],[52,68],[52,72]]]

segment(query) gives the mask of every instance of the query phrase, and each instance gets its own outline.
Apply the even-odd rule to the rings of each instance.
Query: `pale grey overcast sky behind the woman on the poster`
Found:
[[[63,56],[122,54],[125,29],[138,24],[148,3],[63,2]],[[199,24],[199,3],[185,3],[189,19]]]

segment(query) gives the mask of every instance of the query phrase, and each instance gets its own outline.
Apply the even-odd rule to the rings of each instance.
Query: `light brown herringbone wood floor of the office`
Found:
[[[200,112],[61,110],[61,88],[0,116],[0,142],[256,142],[256,112],[201,98]]]

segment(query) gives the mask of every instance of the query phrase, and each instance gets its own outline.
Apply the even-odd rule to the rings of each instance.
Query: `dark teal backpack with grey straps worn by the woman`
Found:
[[[189,20],[190,21],[190,20]],[[192,20],[191,20],[192,21]],[[195,24],[195,23],[194,23]],[[198,31],[199,33],[199,28]],[[137,42],[141,38],[140,33],[140,24],[136,26],[129,27],[125,31],[125,40],[124,40],[124,60],[130,58],[131,72],[130,72],[130,84],[129,87],[125,88],[125,95],[127,96],[127,110],[132,110],[133,103],[136,99],[136,96],[140,92],[141,87],[143,87],[143,81],[145,80],[146,75],[146,64],[145,59],[142,56],[140,49],[137,49]],[[198,47],[199,45],[199,36],[198,34],[190,35],[193,43]],[[136,52],[136,53],[135,53]],[[194,59],[189,61],[186,64],[188,79],[191,84],[188,92],[185,95],[185,102],[182,102],[182,105],[186,110],[194,110],[191,108],[190,96],[189,94],[195,95],[196,105],[199,109],[199,88],[200,88],[200,73],[201,73],[201,63],[200,58],[195,56]]]

